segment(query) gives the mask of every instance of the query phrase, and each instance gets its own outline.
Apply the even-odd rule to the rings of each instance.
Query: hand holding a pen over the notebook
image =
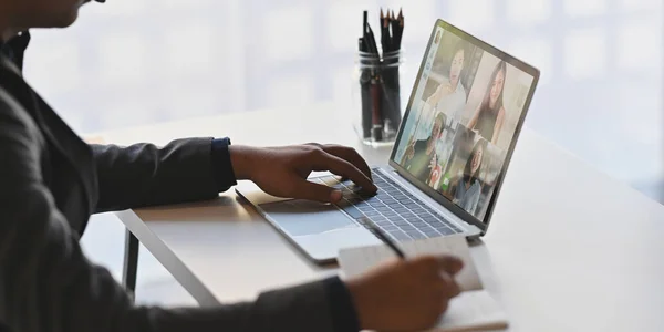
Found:
[[[347,280],[360,326],[377,331],[422,331],[434,326],[460,290],[454,257],[393,260]]]

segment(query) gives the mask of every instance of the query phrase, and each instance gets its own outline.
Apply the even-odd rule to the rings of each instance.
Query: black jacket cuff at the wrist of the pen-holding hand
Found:
[[[325,290],[330,299],[330,311],[332,325],[335,332],[357,332],[360,331],[360,321],[353,304],[353,298],[345,283],[333,277],[325,279]]]

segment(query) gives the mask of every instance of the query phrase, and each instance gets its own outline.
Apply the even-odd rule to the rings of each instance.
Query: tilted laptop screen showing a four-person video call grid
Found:
[[[479,220],[537,82],[537,70],[516,65],[525,66],[438,21],[392,155],[412,180]]]

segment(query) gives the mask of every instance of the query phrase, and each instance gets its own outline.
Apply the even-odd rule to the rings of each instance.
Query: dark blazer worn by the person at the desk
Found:
[[[93,212],[216,197],[211,141],[90,146],[2,56],[0,331],[343,330],[329,303],[346,290],[332,293],[332,279],[253,302],[165,310],[135,307],[85,258],[79,238]]]

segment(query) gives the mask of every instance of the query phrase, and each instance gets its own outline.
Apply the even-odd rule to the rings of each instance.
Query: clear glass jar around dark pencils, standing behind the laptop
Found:
[[[359,52],[355,63],[355,106],[360,106],[355,132],[367,145],[388,145],[396,139],[402,122],[400,71],[402,51]]]

